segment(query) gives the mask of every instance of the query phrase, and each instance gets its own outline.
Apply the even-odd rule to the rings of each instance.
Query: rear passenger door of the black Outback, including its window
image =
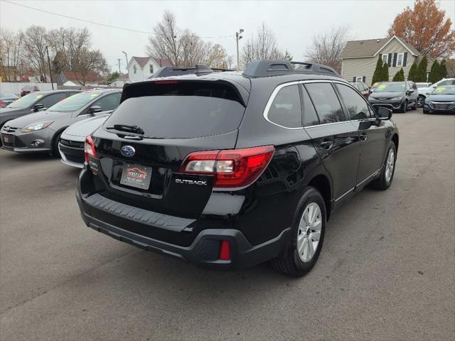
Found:
[[[358,130],[346,120],[332,82],[305,82],[304,88],[320,122],[305,129],[331,175],[333,199],[338,205],[355,188],[360,157]]]

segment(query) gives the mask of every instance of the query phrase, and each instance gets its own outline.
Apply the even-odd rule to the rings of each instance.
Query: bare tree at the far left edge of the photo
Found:
[[[0,67],[4,80],[11,82],[21,74],[18,65],[21,63],[23,34],[2,29],[0,33]]]

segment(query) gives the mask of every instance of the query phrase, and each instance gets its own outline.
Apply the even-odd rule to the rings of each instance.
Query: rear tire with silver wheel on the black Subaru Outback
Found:
[[[305,188],[292,224],[291,242],[284,255],[272,259],[274,269],[282,274],[299,277],[313,268],[321,253],[326,216],[326,204],[319,190],[314,187]]]

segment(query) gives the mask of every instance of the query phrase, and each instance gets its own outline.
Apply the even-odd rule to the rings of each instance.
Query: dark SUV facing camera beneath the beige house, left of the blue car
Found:
[[[368,101],[399,112],[417,109],[419,92],[414,82],[382,82],[368,97]]]

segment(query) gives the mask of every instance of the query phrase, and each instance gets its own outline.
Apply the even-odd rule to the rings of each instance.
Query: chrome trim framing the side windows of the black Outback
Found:
[[[331,124],[342,124],[342,123],[346,123],[346,122],[375,121],[376,120],[376,119],[372,119],[372,118],[368,118],[368,119],[350,119],[350,120],[346,120],[346,121],[315,124],[313,126],[299,126],[299,127],[296,127],[296,128],[289,128],[289,126],[282,126],[281,124],[277,124],[277,123],[275,123],[273,121],[270,121],[270,119],[268,117],[269,110],[270,110],[270,107],[272,107],[272,103],[273,103],[275,97],[277,97],[277,94],[278,94],[279,90],[282,90],[282,88],[289,87],[291,85],[311,84],[311,83],[338,83],[338,84],[346,85],[346,86],[350,87],[351,89],[353,89],[355,92],[358,92],[358,90],[355,89],[355,87],[353,87],[353,85],[350,85],[349,82],[341,81],[341,80],[293,80],[291,82],[282,83],[280,85],[277,85],[277,87],[275,87],[275,89],[273,90],[272,94],[270,95],[269,100],[267,101],[267,104],[265,105],[264,112],[262,112],[262,116],[264,117],[264,119],[266,121],[270,122],[271,124],[274,124],[275,126],[279,126],[281,128],[289,129],[289,130],[304,130],[304,129],[307,129],[307,128],[310,128],[310,129],[314,128],[315,126],[328,126],[328,125],[331,125]],[[360,94],[360,92],[358,92],[358,94],[359,94],[360,97],[363,98],[363,96],[362,96],[362,94]],[[363,100],[370,107],[370,104],[368,103],[368,101],[366,101],[365,99],[363,99]]]

